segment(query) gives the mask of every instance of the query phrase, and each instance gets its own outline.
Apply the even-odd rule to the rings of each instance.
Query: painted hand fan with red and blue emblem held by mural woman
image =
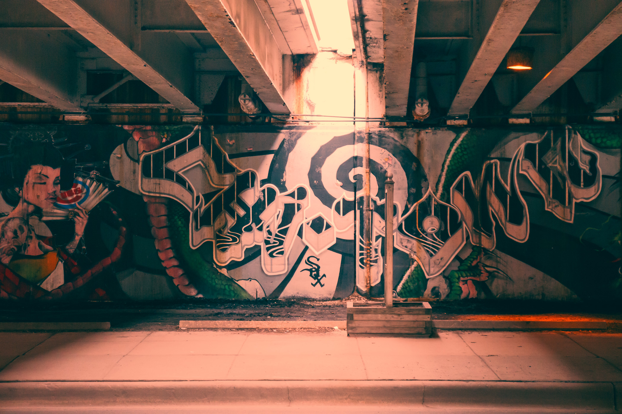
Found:
[[[76,177],[70,189],[60,192],[60,196],[57,197],[54,203],[54,208],[44,210],[43,220],[68,220],[73,218],[75,213],[71,209],[74,209],[77,205],[85,209],[88,214],[93,207],[112,192],[108,181],[116,185],[116,182],[112,180],[93,174],[85,177]]]

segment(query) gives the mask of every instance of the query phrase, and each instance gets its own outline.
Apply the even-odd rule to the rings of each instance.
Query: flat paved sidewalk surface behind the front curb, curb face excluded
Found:
[[[24,340],[23,333],[5,333]],[[39,335],[39,334],[27,334]],[[39,340],[42,338],[36,336]],[[436,337],[352,338],[345,331],[57,333],[32,349],[0,349],[0,380],[576,380],[621,381],[615,340],[587,351],[570,336],[440,331]],[[613,339],[615,338],[615,339]],[[598,348],[598,349],[596,349]]]

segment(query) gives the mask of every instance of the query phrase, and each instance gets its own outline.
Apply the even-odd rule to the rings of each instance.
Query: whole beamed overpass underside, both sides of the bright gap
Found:
[[[353,63],[384,71],[389,117],[410,116],[411,68],[420,62],[430,105],[443,117],[568,110],[550,97],[571,86],[587,112],[622,107],[620,0],[346,1]],[[318,52],[309,7],[307,0],[2,0],[0,81],[82,111],[101,98],[86,94],[88,74],[118,73],[109,87],[139,79],[161,102],[195,113],[234,74],[269,111],[288,114],[292,56]],[[532,70],[505,67],[517,47],[534,51]],[[485,91],[496,96],[487,107]]]

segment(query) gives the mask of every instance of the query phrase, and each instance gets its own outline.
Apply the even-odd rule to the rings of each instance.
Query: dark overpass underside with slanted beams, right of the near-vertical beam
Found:
[[[571,104],[548,98],[568,88],[578,89],[586,112],[617,111],[622,107],[620,4],[420,0],[414,63],[428,63],[439,104],[449,104],[447,114],[457,118],[566,112]],[[434,18],[441,13],[442,19]],[[521,47],[533,50],[533,69],[507,69],[508,51]],[[474,113],[489,83],[496,102],[489,99]]]

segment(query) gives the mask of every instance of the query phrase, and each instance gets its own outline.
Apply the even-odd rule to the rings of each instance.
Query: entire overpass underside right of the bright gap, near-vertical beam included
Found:
[[[448,118],[487,115],[487,110],[511,116],[566,112],[569,105],[547,98],[569,82],[594,112],[622,107],[620,0],[411,0],[391,4],[392,13],[385,10],[381,17],[380,0],[348,1],[351,19],[360,25],[353,25],[359,53],[384,64],[389,117],[408,115],[414,72],[407,79],[404,67],[419,62],[427,63],[434,104]],[[402,15],[396,19],[397,11]],[[400,38],[397,47],[389,32]],[[411,39],[412,58],[404,56]],[[506,68],[509,50],[519,47],[534,50],[532,70]],[[497,102],[472,114],[490,81]]]

